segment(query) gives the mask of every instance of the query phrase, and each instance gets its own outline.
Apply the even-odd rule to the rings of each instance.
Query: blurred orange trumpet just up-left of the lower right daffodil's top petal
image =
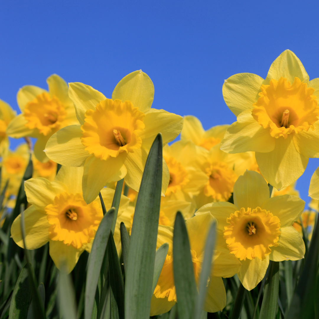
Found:
[[[232,195],[237,175],[226,163],[213,162],[206,168],[209,180],[204,187],[204,194],[217,201],[227,201]]]

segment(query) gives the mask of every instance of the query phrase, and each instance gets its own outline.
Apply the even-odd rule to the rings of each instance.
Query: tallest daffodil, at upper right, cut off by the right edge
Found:
[[[223,95],[237,122],[227,129],[221,149],[256,152],[261,174],[272,186],[291,185],[308,158],[319,157],[319,78],[309,81],[292,51],[278,56],[265,80],[252,73],[231,76]]]

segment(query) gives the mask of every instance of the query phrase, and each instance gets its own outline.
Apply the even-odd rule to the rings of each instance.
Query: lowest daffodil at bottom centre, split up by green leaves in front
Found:
[[[212,221],[215,220],[209,212],[194,216],[186,221],[191,256],[194,266],[196,283],[202,270],[206,236]],[[157,248],[168,242],[169,248],[159,280],[154,290],[151,302],[151,316],[169,311],[176,303],[176,292],[173,275],[173,227],[159,226]],[[226,291],[221,277],[232,277],[241,268],[241,263],[226,247],[215,246],[213,268],[209,277],[204,310],[216,312],[226,305]]]

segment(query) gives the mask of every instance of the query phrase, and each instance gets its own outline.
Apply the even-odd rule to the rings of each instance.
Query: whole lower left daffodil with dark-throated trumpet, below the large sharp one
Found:
[[[82,196],[83,167],[61,167],[53,182],[31,178],[25,182],[31,204],[24,211],[26,248],[37,249],[49,242],[49,253],[56,267],[66,265],[72,271],[84,250],[90,252],[96,230],[103,218],[99,197],[86,204]],[[111,208],[114,189],[101,190],[104,204]],[[127,208],[129,199],[122,195],[119,212]],[[11,226],[11,237],[20,247],[21,215]]]

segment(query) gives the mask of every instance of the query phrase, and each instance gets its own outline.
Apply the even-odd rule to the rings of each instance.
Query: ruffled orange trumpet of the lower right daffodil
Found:
[[[263,260],[271,253],[270,247],[278,246],[280,220],[270,211],[241,208],[226,221],[230,224],[223,231],[227,247],[240,260],[256,257]]]

